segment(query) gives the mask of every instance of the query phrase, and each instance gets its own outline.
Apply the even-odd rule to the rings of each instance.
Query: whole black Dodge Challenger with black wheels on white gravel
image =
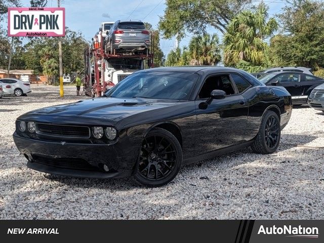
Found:
[[[55,175],[170,182],[182,164],[251,146],[274,152],[292,112],[283,87],[222,67],[136,72],[104,97],[34,110],[14,141],[31,169]]]

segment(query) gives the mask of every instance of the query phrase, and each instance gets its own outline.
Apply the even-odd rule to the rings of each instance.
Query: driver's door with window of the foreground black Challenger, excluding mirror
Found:
[[[226,98],[214,99],[209,105],[212,90],[223,90]],[[230,75],[210,75],[205,79],[195,100],[195,155],[208,153],[242,142],[247,125],[248,106],[238,93]]]

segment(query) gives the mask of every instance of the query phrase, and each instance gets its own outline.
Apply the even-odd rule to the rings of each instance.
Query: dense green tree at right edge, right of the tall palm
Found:
[[[295,0],[279,15],[282,31],[271,39],[271,51],[282,65],[324,67],[324,3]]]

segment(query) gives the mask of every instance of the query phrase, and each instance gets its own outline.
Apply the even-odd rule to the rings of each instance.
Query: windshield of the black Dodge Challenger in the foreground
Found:
[[[198,76],[183,72],[134,73],[115,85],[105,96],[187,100]]]

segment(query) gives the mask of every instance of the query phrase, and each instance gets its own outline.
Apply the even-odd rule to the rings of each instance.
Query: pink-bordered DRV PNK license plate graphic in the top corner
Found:
[[[8,8],[9,36],[64,36],[64,8]]]

